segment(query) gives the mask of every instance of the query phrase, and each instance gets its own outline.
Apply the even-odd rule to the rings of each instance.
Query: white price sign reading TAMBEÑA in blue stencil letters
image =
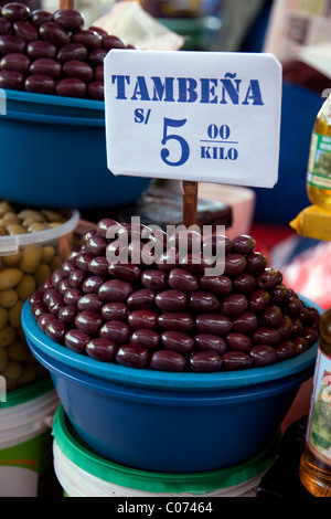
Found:
[[[114,174],[273,188],[281,65],[273,54],[111,50],[105,60]]]

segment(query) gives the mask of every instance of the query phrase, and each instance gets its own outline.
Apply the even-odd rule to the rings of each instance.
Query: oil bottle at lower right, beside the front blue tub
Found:
[[[320,342],[299,476],[312,496],[331,497],[331,308],[320,318]]]

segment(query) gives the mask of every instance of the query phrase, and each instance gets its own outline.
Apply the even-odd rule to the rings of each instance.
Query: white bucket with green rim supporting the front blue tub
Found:
[[[254,458],[221,470],[161,474],[125,467],[95,454],[77,436],[62,405],[53,423],[54,470],[65,497],[254,497],[277,455],[279,436]]]

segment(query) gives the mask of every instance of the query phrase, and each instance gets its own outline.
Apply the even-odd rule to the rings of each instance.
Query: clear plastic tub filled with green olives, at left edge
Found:
[[[46,375],[21,327],[24,301],[70,256],[77,211],[28,208],[0,199],[0,375],[7,391]]]

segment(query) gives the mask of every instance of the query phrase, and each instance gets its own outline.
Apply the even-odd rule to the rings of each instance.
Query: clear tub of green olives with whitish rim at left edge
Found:
[[[44,374],[28,348],[20,316],[24,301],[72,253],[79,212],[63,216],[66,221],[53,229],[0,236],[0,375],[8,391]]]

